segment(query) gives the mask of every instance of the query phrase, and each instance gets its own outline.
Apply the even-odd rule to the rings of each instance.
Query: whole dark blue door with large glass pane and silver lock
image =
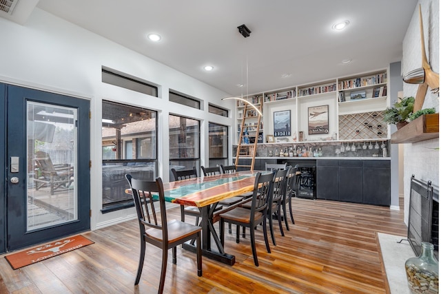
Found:
[[[3,87],[6,250],[90,229],[90,102]]]

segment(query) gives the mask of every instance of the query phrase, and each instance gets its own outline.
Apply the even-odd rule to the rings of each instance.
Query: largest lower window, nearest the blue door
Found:
[[[156,178],[157,128],[156,112],[103,101],[103,212],[133,206],[125,174]]]

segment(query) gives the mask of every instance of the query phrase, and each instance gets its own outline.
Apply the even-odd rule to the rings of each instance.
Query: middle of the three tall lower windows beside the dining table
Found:
[[[169,128],[170,169],[199,170],[199,120],[170,114]]]

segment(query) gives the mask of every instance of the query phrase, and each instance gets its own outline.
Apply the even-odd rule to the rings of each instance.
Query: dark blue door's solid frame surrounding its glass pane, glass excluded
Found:
[[[26,156],[26,138],[25,121],[27,114],[25,110],[26,101],[37,101],[41,103],[50,103],[53,105],[76,107],[78,109],[78,221],[59,226],[41,229],[37,231],[26,232],[26,199],[21,195],[27,195],[23,174],[10,174],[7,167],[5,182],[5,200],[6,218],[4,225],[6,240],[6,250],[20,249],[25,246],[31,246],[41,242],[62,238],[67,235],[87,231],[90,229],[90,101],[82,98],[74,98],[41,90],[33,90],[26,87],[15,85],[5,85],[5,112],[6,123],[3,146],[6,146],[6,154],[3,156],[6,165],[9,165],[10,156]],[[12,115],[8,109],[17,109],[17,114]],[[13,136],[8,135],[8,129],[14,126]],[[20,126],[20,127],[19,127]],[[0,134],[1,136],[1,134]],[[0,138],[1,140],[1,138]],[[4,165],[3,165],[4,166]],[[26,171],[26,160],[20,160],[20,170]],[[12,184],[9,178],[20,175],[23,180],[19,184]],[[24,176],[27,176],[26,174]],[[11,192],[12,191],[12,192]],[[18,196],[17,196],[18,195]]]

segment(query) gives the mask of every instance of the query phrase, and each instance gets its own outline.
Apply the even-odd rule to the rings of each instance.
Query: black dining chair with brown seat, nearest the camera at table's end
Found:
[[[196,239],[196,260],[198,276],[202,276],[202,249],[201,227],[187,224],[179,220],[167,220],[165,210],[164,187],[161,178],[156,181],[136,180],[130,174],[125,178],[132,189],[132,196],[138,216],[139,234],[141,237],[141,252],[139,254],[138,272],[136,273],[135,285],[139,284],[143,271],[145,258],[145,243],[150,243],[163,251],[161,277],[159,280],[158,293],[163,293],[165,272],[167,271],[167,251],[172,249],[173,263],[176,264],[176,246]],[[154,208],[152,194],[158,195],[161,219],[158,220]]]

